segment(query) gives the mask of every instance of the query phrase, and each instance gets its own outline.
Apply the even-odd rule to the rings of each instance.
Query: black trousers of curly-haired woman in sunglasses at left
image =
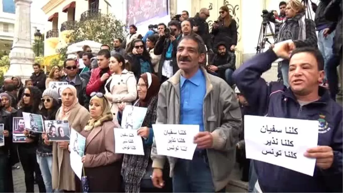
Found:
[[[25,174],[26,193],[34,193],[35,177],[38,183],[39,193],[45,193],[45,185],[37,163],[36,152],[31,148],[18,147],[19,160],[23,166]]]

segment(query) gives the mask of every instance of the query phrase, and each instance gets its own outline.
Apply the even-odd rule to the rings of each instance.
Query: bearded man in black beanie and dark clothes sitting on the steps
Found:
[[[236,55],[228,52],[225,42],[217,44],[217,53],[212,58],[211,65],[207,68],[212,75],[218,76],[233,86],[232,73],[236,70]]]

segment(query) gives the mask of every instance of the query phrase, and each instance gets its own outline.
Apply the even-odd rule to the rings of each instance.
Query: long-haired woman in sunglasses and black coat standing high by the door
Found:
[[[219,42],[225,42],[228,45],[229,52],[235,52],[237,45],[237,23],[229,13],[227,6],[219,9],[219,18],[212,25],[212,35],[214,35],[213,50],[217,52],[216,46]]]

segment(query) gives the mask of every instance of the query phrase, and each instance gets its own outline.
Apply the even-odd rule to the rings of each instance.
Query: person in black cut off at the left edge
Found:
[[[2,94],[2,93],[1,93]],[[0,94],[0,96],[1,96]],[[2,100],[2,98],[0,97]],[[4,146],[0,147],[0,192],[13,193],[12,160],[12,116],[5,111],[3,103],[0,106],[0,124],[3,124],[2,137]]]

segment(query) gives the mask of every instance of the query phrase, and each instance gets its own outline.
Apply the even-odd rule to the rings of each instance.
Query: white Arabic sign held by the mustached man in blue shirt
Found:
[[[193,159],[199,125],[152,125],[158,155]]]

